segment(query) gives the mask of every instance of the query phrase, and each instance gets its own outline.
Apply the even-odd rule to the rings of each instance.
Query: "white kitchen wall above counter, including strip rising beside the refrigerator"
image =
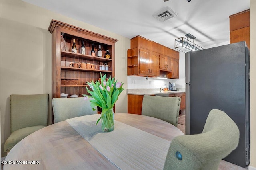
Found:
[[[127,88],[128,89],[138,89],[138,88],[160,88],[165,84],[168,86],[168,83],[176,83],[176,88],[185,88],[185,53],[180,52],[180,61],[179,61],[179,79],[167,79],[159,80],[156,78],[140,77],[140,76],[128,76],[127,78]]]

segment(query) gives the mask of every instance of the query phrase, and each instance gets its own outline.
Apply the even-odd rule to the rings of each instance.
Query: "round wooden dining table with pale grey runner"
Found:
[[[114,113],[114,130],[103,132],[99,118],[74,117],[28,135],[2,161],[4,170],[163,169],[172,139],[184,135],[161,119],[128,113]]]

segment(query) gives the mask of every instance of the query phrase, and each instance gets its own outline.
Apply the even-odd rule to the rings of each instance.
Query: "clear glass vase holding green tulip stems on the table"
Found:
[[[101,118],[101,129],[104,132],[111,132],[115,127],[114,111],[113,108],[108,111]]]

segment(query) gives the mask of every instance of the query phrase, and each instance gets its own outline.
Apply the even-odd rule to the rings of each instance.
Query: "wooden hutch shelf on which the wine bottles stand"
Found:
[[[70,58],[76,58],[76,59],[86,59],[86,60],[92,60],[92,61],[101,61],[101,62],[110,62],[112,59],[106,59],[104,57],[97,57],[92,55],[84,55],[80,53],[72,53],[69,51],[60,51],[62,57],[70,57]]]

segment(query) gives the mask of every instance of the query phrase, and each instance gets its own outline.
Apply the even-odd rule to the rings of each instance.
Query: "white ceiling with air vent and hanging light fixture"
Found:
[[[229,43],[229,16],[250,8],[250,0],[23,0],[124,37],[137,35],[174,49],[174,39],[190,33],[208,48]],[[153,17],[164,7],[177,16]]]

